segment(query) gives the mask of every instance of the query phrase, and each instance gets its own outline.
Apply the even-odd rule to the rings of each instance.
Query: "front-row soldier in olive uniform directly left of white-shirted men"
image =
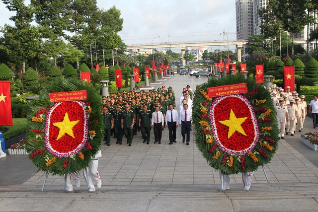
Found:
[[[141,134],[144,141],[147,141],[147,144],[150,142],[150,128],[152,123],[152,112],[147,109],[147,104],[143,104],[143,110],[139,112],[139,126],[141,129]]]

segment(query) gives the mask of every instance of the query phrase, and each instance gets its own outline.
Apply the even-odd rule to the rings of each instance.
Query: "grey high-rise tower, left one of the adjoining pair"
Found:
[[[237,40],[246,40],[254,34],[253,0],[235,0]]]

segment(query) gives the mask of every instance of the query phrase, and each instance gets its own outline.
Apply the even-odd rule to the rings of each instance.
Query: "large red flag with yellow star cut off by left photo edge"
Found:
[[[0,81],[0,126],[1,125],[13,125],[10,81]]]

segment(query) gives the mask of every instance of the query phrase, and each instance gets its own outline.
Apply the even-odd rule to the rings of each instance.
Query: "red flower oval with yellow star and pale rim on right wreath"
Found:
[[[220,149],[242,155],[259,140],[257,118],[253,106],[241,95],[222,96],[210,108],[212,133]]]

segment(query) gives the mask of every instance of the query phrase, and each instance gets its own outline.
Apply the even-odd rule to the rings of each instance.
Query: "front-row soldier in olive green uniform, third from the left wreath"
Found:
[[[127,143],[131,146],[134,137],[134,122],[135,114],[130,110],[130,104],[127,102],[125,104],[125,111],[121,114],[121,128],[124,129],[124,135],[127,139]]]

